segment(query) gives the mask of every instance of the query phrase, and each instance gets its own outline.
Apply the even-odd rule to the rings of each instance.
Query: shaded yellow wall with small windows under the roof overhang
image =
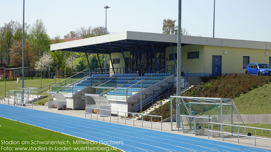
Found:
[[[173,47],[174,53],[177,53],[177,46]],[[199,51],[198,59],[187,59],[188,52]],[[185,45],[181,48],[181,65],[187,69],[188,73],[204,73],[204,45]],[[165,65],[175,64],[174,60],[169,60],[169,54],[172,54],[171,47],[166,48]],[[176,59],[177,62],[177,59]]]

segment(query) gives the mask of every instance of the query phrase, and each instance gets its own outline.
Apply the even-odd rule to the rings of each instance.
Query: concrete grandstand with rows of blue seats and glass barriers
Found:
[[[57,83],[53,86],[53,92],[48,93],[62,94],[67,102],[67,108],[74,110],[84,109],[86,106],[86,100],[81,98],[83,95],[96,94],[104,97],[107,102],[110,103],[110,110],[135,111],[135,105],[141,101],[141,76],[139,76],[139,74],[82,74],[88,73],[89,71],[90,70],[86,69]],[[176,77],[174,70],[169,70],[168,72],[144,73],[142,76],[142,99],[145,100],[162,88],[166,88],[174,82],[174,77]],[[172,85],[171,87],[173,88],[174,86]],[[90,97],[87,96],[87,104],[96,106],[95,102],[98,101],[93,102],[88,98]],[[54,98],[54,100],[57,100],[57,98]],[[145,103],[147,102],[148,100],[145,101]],[[57,104],[57,102],[53,103]]]

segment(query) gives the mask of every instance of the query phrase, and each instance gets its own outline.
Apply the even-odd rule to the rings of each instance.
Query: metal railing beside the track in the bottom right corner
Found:
[[[210,128],[209,128],[209,125],[210,125],[210,124],[211,124],[211,126],[212,126],[212,130],[210,130]],[[214,130],[213,130],[213,124],[221,125],[222,132],[214,131]],[[237,128],[238,128],[238,133],[236,134],[236,133],[224,132],[224,126],[234,126],[234,127],[237,127]],[[250,136],[249,136],[249,135],[240,135],[240,134],[239,134],[239,128],[240,128],[240,127],[254,129],[254,136],[251,136],[251,133],[250,133]],[[247,127],[247,126],[238,126],[238,125],[230,125],[230,124],[224,124],[224,123],[212,123],[212,122],[209,122],[209,123],[208,123],[208,138],[209,138],[209,132],[212,132],[212,133],[213,133],[213,132],[221,133],[221,134],[222,134],[222,140],[223,140],[223,141],[224,141],[224,134],[228,134],[228,135],[237,135],[237,136],[238,136],[238,144],[239,144],[239,136],[241,136],[241,137],[251,137],[251,138],[254,138],[254,145],[255,145],[255,146],[256,146],[256,138],[258,138],[258,139],[271,140],[271,138],[256,137],[256,129],[271,131],[271,129],[264,129],[264,128],[256,128],[256,127]],[[249,133],[248,133],[248,134],[249,134]]]

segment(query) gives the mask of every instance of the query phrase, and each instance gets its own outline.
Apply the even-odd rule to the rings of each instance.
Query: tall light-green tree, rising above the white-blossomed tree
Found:
[[[50,49],[50,38],[47,35],[47,29],[45,28],[42,20],[37,19],[30,29],[30,43],[36,56],[42,56],[44,52],[48,52]]]

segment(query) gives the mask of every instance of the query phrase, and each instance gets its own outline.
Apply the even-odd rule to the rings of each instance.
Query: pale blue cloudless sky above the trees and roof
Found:
[[[25,0],[25,22],[41,19],[53,38],[81,26],[111,33],[162,33],[163,19],[178,19],[178,0]],[[215,37],[271,42],[270,0],[216,0]],[[0,26],[23,22],[23,0],[0,0]],[[182,0],[181,27],[192,36],[213,36],[214,0]],[[176,22],[177,23],[177,22]]]

